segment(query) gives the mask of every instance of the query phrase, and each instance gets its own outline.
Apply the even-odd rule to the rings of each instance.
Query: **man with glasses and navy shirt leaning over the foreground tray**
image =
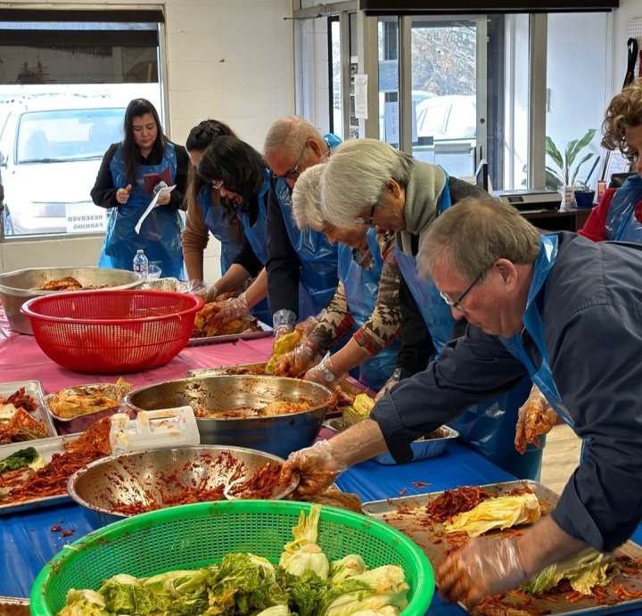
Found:
[[[406,461],[416,435],[528,374],[586,455],[551,513],[452,550],[436,571],[440,595],[472,608],[588,547],[613,551],[642,519],[641,261],[640,244],[540,235],[498,201],[449,209],[422,238],[417,265],[468,317],[465,335],[388,391],[369,419],[292,454],[284,479],[300,471],[304,495],[386,448]]]

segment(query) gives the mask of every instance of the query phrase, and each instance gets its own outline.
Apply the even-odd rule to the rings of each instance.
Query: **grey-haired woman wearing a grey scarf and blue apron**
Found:
[[[434,351],[439,354],[454,337],[456,319],[465,317],[469,289],[451,301],[432,280],[421,278],[416,271],[419,239],[452,204],[469,195],[488,198],[488,193],[374,139],[337,147],[327,163],[322,193],[322,214],[330,224],[358,222],[395,232],[404,321],[394,380],[423,371]],[[525,377],[498,398],[490,399],[490,391],[490,401],[449,423],[475,451],[520,479],[537,479],[541,468],[540,448],[529,446],[521,455],[512,447],[517,412],[530,388]]]

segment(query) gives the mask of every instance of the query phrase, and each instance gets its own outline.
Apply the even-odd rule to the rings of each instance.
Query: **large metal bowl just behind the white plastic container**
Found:
[[[308,402],[311,408],[292,415],[196,419],[201,442],[268,451],[287,457],[317,437],[332,391],[315,382],[249,374],[194,377],[132,390],[125,403],[136,412],[159,408],[207,408],[216,413],[261,408],[270,402]]]

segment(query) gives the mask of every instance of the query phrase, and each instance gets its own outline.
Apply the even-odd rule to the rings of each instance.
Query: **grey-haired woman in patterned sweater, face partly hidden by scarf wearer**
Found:
[[[359,366],[359,381],[378,390],[395,369],[400,346],[400,274],[394,234],[377,234],[374,226],[363,223],[329,224],[320,207],[325,167],[325,163],[317,164],[300,175],[292,193],[292,214],[300,229],[310,227],[324,233],[330,242],[339,242],[339,284],[328,307],[307,320],[314,325],[309,336],[281,357],[276,374],[305,373],[309,381],[331,384]],[[326,351],[350,334],[341,349],[319,362]]]

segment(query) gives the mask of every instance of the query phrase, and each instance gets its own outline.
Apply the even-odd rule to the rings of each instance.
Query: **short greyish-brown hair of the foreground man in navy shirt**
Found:
[[[437,263],[446,262],[462,279],[474,280],[498,259],[532,263],[539,255],[539,238],[538,230],[513,206],[490,197],[467,197],[422,234],[417,271],[425,278]]]

